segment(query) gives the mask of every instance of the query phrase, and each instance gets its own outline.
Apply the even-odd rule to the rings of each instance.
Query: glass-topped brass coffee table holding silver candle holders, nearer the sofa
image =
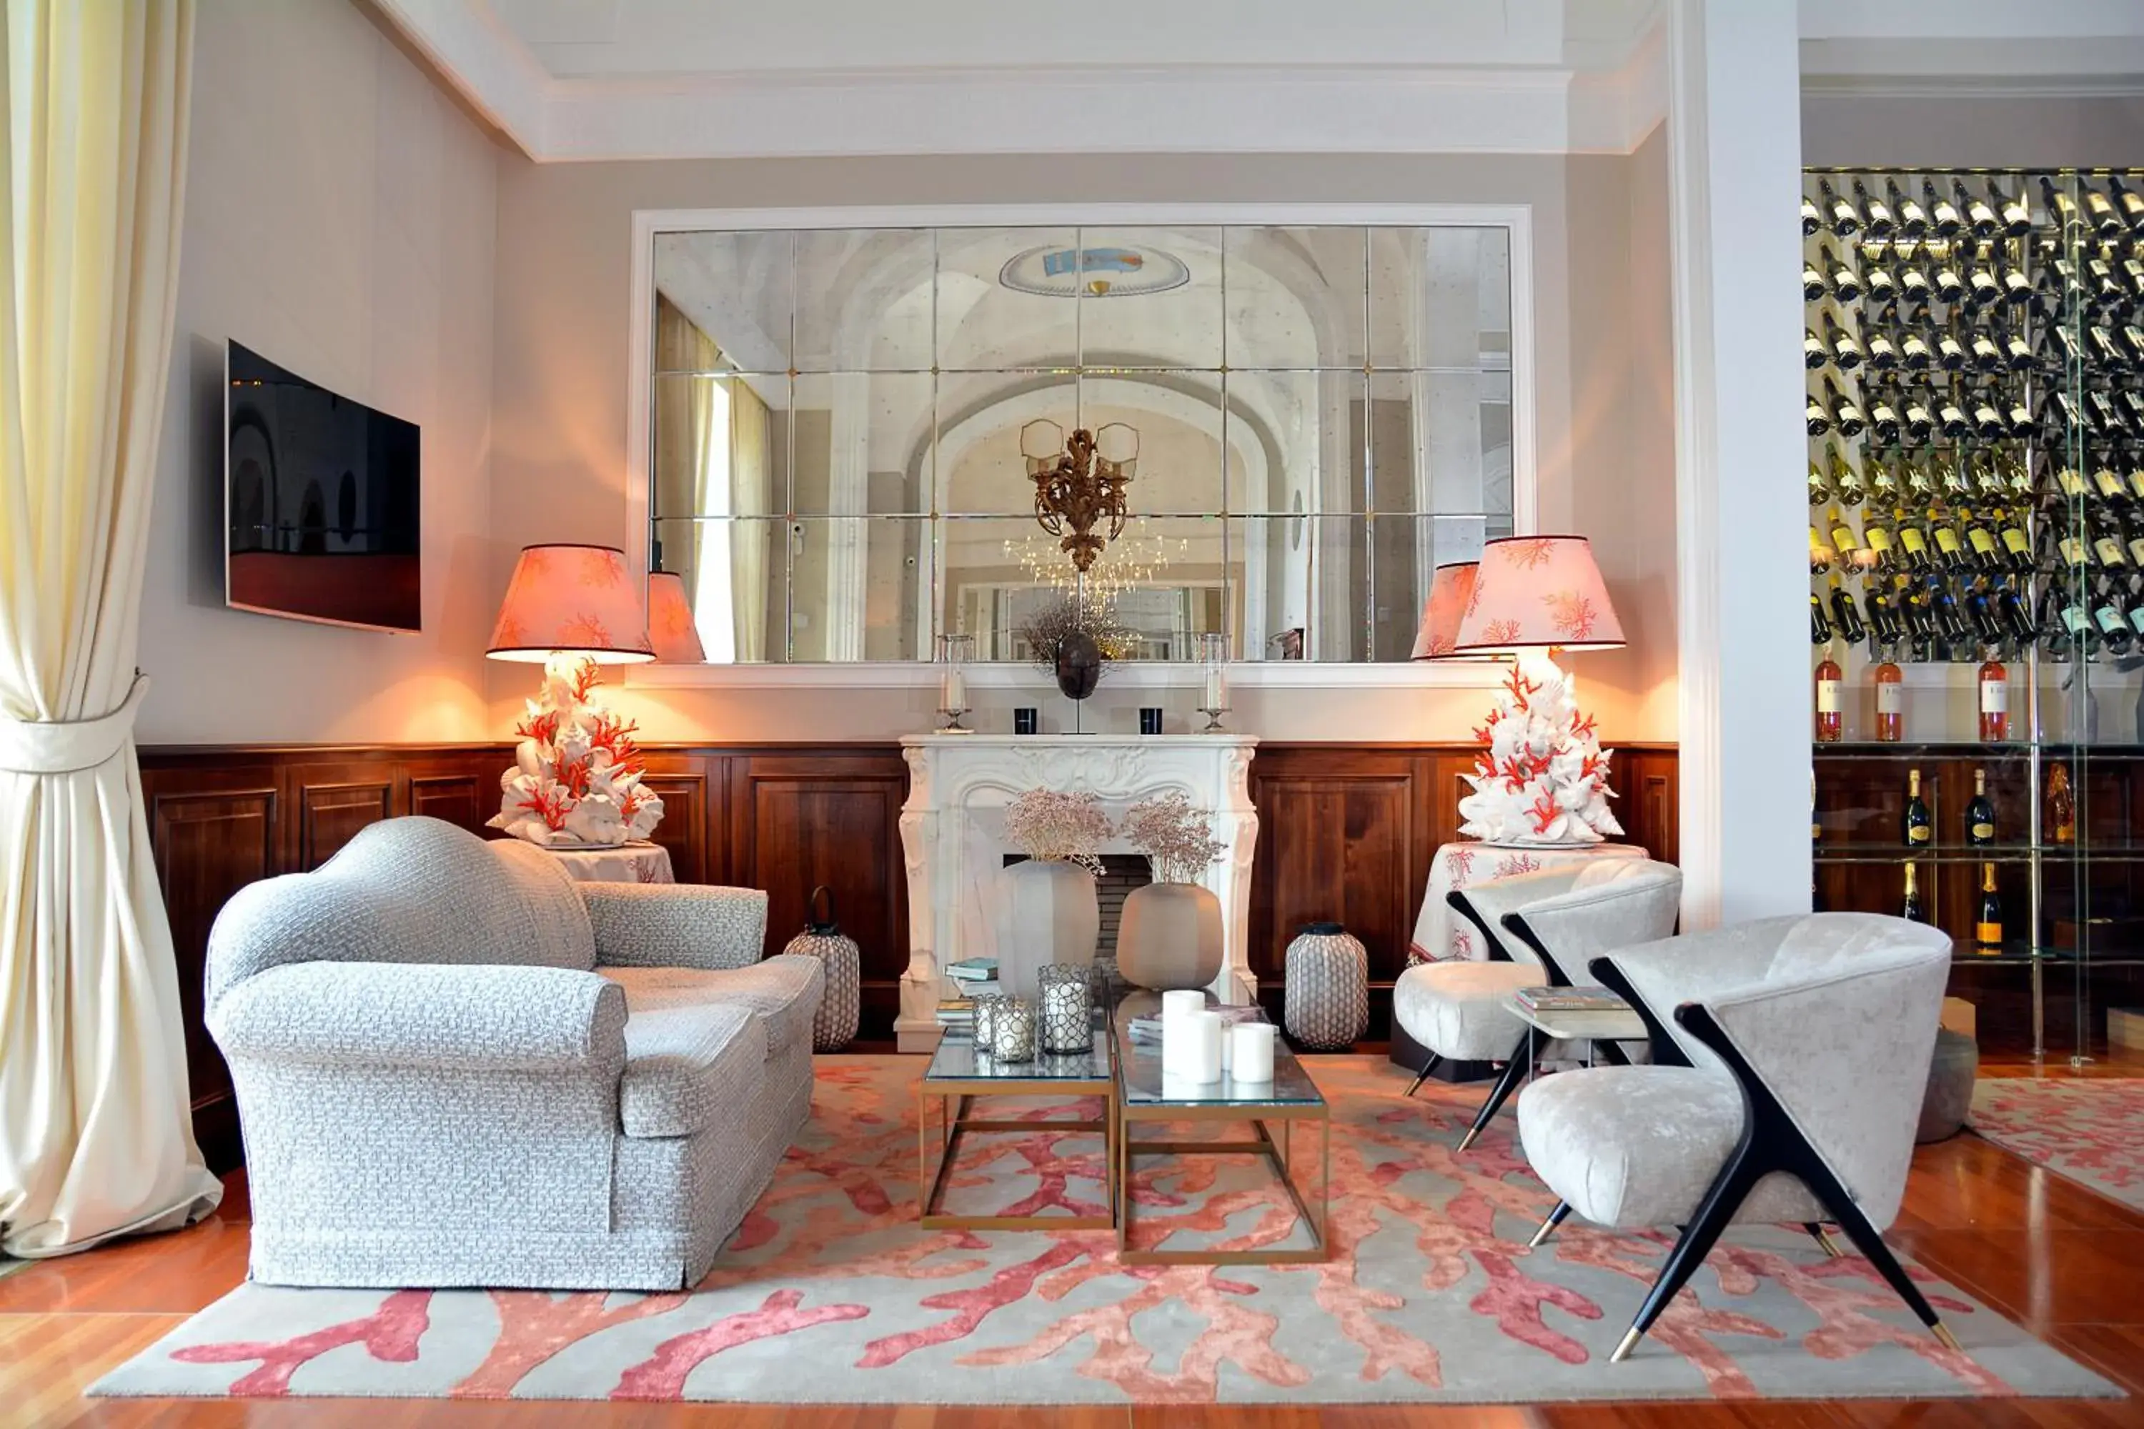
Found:
[[[973,1035],[948,1031],[939,1037],[930,1065],[915,1082],[915,1180],[922,1223],[948,1230],[1111,1230],[1119,1213],[1115,1041],[1108,1013],[1098,1009],[1085,1052],[1036,1052],[1025,1063],[1008,1063],[976,1052]],[[1102,1101],[1102,1118],[982,1118],[973,1110],[982,1097],[1083,1095]],[[939,1161],[930,1172],[930,1103],[939,1103]],[[971,1133],[995,1131],[1100,1131],[1106,1215],[958,1215],[946,1210],[946,1183]]]

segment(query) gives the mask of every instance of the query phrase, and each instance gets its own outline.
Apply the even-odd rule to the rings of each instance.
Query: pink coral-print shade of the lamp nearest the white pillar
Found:
[[[1482,546],[1456,653],[1614,649],[1623,621],[1584,536],[1505,536]]]

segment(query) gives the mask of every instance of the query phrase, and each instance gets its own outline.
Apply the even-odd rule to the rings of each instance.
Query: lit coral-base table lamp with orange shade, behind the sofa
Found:
[[[641,786],[637,728],[596,703],[605,664],[654,660],[647,615],[613,546],[523,546],[491,630],[491,660],[542,662],[542,688],[515,728],[493,829],[547,848],[645,840],[662,799]]]

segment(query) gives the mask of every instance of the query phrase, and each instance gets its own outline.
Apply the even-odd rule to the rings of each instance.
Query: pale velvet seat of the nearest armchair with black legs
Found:
[[[1518,1140],[1533,1174],[1595,1225],[1681,1225],[1741,1140],[1734,1078],[1700,1067],[1587,1067],[1518,1095]],[[1737,1221],[1816,1221],[1795,1176],[1756,1183]]]

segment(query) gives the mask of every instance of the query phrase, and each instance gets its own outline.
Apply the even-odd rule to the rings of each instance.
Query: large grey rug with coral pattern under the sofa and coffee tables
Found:
[[[1406,1101],[1406,1073],[1383,1058],[1308,1065],[1334,1105],[1327,1264],[1126,1266],[1111,1232],[926,1232],[915,1223],[922,1063],[840,1056],[821,1058],[810,1127],[690,1294],[249,1283],[92,1393],[761,1403],[2114,1393],[1917,1273],[1966,1345],[1949,1352],[1863,1260],[1825,1260],[1775,1228],[1732,1232],[1636,1356],[1610,1365],[1668,1234],[1565,1225],[1529,1251],[1554,1198],[1529,1174],[1512,1118],[1454,1155],[1479,1088],[1432,1082]],[[1093,1114],[1057,1105],[1068,1118],[1081,1110]],[[1297,1155],[1312,1146],[1297,1129]],[[1314,1153],[1304,1163],[1314,1176]],[[1100,1174],[1091,1133],[1008,1133],[963,1157],[954,1208],[1093,1210]],[[1141,1161],[1136,1195],[1141,1223],[1171,1245],[1299,1234],[1248,1157]]]

